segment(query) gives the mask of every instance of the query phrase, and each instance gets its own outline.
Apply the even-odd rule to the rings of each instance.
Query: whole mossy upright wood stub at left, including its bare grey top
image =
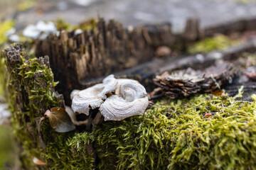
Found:
[[[41,117],[48,108],[53,106],[64,107],[63,95],[58,94],[54,89],[49,58],[45,56],[28,60],[19,43],[3,50],[1,57],[4,57],[9,74],[6,101],[11,107],[12,125],[17,137],[16,144],[18,149],[21,149],[20,152],[24,152],[24,147],[33,148],[39,152],[41,147],[38,147],[36,117]],[[41,157],[41,155],[33,156]],[[22,163],[21,169],[44,169],[42,166],[28,166],[31,158],[25,152],[19,155],[19,159]]]

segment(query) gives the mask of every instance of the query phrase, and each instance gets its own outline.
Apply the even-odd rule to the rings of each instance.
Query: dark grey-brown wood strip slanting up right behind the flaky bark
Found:
[[[137,67],[124,70],[114,74],[115,77],[127,77],[137,79],[146,87],[147,91],[152,91],[154,86],[153,79],[158,74],[163,72],[173,72],[178,69],[186,69],[191,67],[193,69],[204,69],[214,64],[218,60],[236,60],[244,52],[255,52],[255,41],[246,42],[245,44],[238,45],[236,47],[230,47],[230,49],[224,52],[210,52],[206,55],[191,55],[183,57],[166,57],[164,59],[155,59],[151,62],[140,64]],[[81,81],[83,86],[87,84],[95,84],[101,81],[102,78],[91,79],[90,81]]]

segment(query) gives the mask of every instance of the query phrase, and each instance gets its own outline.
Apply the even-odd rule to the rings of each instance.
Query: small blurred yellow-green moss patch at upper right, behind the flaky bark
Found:
[[[188,53],[196,54],[213,50],[226,50],[228,47],[237,43],[237,40],[232,40],[225,35],[215,35],[213,38],[206,38],[191,45],[188,47]]]

